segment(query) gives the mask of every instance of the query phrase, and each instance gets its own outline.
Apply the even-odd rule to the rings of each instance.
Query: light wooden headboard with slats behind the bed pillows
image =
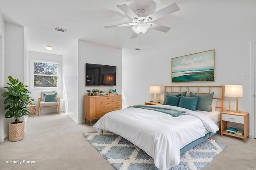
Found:
[[[164,92],[193,92],[198,94],[210,94],[214,92],[213,98],[217,99],[216,109],[223,111],[224,86],[164,86]]]

